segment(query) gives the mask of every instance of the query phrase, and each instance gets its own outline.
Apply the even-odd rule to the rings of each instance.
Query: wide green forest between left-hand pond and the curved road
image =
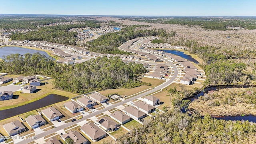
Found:
[[[125,64],[118,57],[91,59],[81,64],[56,64],[52,58],[37,54],[11,54],[0,62],[0,71],[8,74],[42,74],[54,78],[56,89],[83,94],[93,90],[133,88],[150,85],[140,82],[146,72],[142,64]]]

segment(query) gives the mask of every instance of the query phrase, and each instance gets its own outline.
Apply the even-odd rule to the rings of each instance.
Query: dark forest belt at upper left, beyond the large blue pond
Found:
[[[27,33],[12,33],[12,40],[47,41],[60,44],[76,45],[77,32],[67,32],[72,28],[99,28],[101,25],[96,21],[86,21],[84,24],[69,24],[57,26],[45,26],[39,30]]]

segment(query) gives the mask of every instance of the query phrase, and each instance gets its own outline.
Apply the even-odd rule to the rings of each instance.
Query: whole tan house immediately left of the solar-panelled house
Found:
[[[106,132],[92,122],[84,124],[79,129],[94,142],[106,137]]]

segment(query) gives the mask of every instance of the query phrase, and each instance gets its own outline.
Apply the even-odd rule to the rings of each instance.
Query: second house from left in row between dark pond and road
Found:
[[[30,115],[27,118],[25,118],[25,120],[30,126],[30,128],[38,128],[46,123],[44,118],[42,118],[42,116],[40,116],[39,114],[35,116]]]

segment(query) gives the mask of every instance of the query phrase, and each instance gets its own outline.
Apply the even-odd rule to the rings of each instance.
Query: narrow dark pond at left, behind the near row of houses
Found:
[[[18,99],[12,99],[12,100],[18,100]],[[29,104],[25,104],[23,106],[18,106],[18,107],[6,109],[6,110],[0,110],[0,120],[4,120],[6,118],[23,114],[25,112],[30,112],[32,110],[43,108],[45,106],[49,106],[51,104],[55,104],[65,100],[68,100],[68,97],[60,96],[57,94],[50,94],[44,98],[41,98],[40,100],[36,100]]]

